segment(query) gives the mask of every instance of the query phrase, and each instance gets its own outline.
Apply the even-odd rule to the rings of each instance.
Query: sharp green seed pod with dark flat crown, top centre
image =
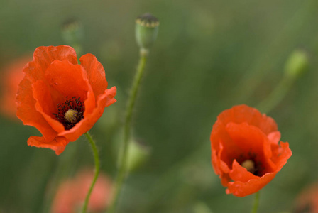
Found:
[[[136,19],[136,40],[139,48],[148,51],[158,35],[159,21],[150,13],[138,16]]]

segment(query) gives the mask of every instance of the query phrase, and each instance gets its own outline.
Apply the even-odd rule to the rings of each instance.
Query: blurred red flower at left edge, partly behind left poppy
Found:
[[[16,119],[16,92],[24,76],[23,67],[30,60],[31,56],[19,58],[4,67],[1,73],[0,111],[9,119]]]

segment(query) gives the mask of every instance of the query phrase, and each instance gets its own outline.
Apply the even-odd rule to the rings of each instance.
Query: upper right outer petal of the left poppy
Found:
[[[103,65],[92,54],[83,55],[79,60],[87,72],[89,84],[92,86],[95,97],[98,97],[99,94],[103,94],[105,89],[107,89]]]

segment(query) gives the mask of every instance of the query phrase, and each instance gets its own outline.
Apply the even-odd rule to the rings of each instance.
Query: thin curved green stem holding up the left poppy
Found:
[[[92,190],[94,188],[95,182],[98,178],[98,174],[99,174],[99,155],[98,155],[98,151],[97,151],[97,147],[95,145],[95,142],[92,138],[92,136],[89,135],[89,133],[85,133],[85,136],[87,137],[87,140],[89,141],[89,143],[92,146],[92,150],[93,150],[93,154],[94,154],[94,160],[95,160],[95,175],[94,175],[94,179],[92,181],[92,185],[91,187],[89,187],[89,191],[87,192],[86,198],[85,198],[85,202],[84,202],[84,206],[82,209],[82,213],[86,213],[87,212],[87,206],[88,206],[88,202],[89,202],[89,197],[91,196]]]

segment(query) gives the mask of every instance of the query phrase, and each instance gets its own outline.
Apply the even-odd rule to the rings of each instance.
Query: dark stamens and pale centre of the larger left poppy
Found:
[[[80,97],[72,97],[65,103],[57,104],[57,114],[53,113],[53,115],[63,124],[65,130],[69,130],[84,118],[84,111],[85,107]]]

